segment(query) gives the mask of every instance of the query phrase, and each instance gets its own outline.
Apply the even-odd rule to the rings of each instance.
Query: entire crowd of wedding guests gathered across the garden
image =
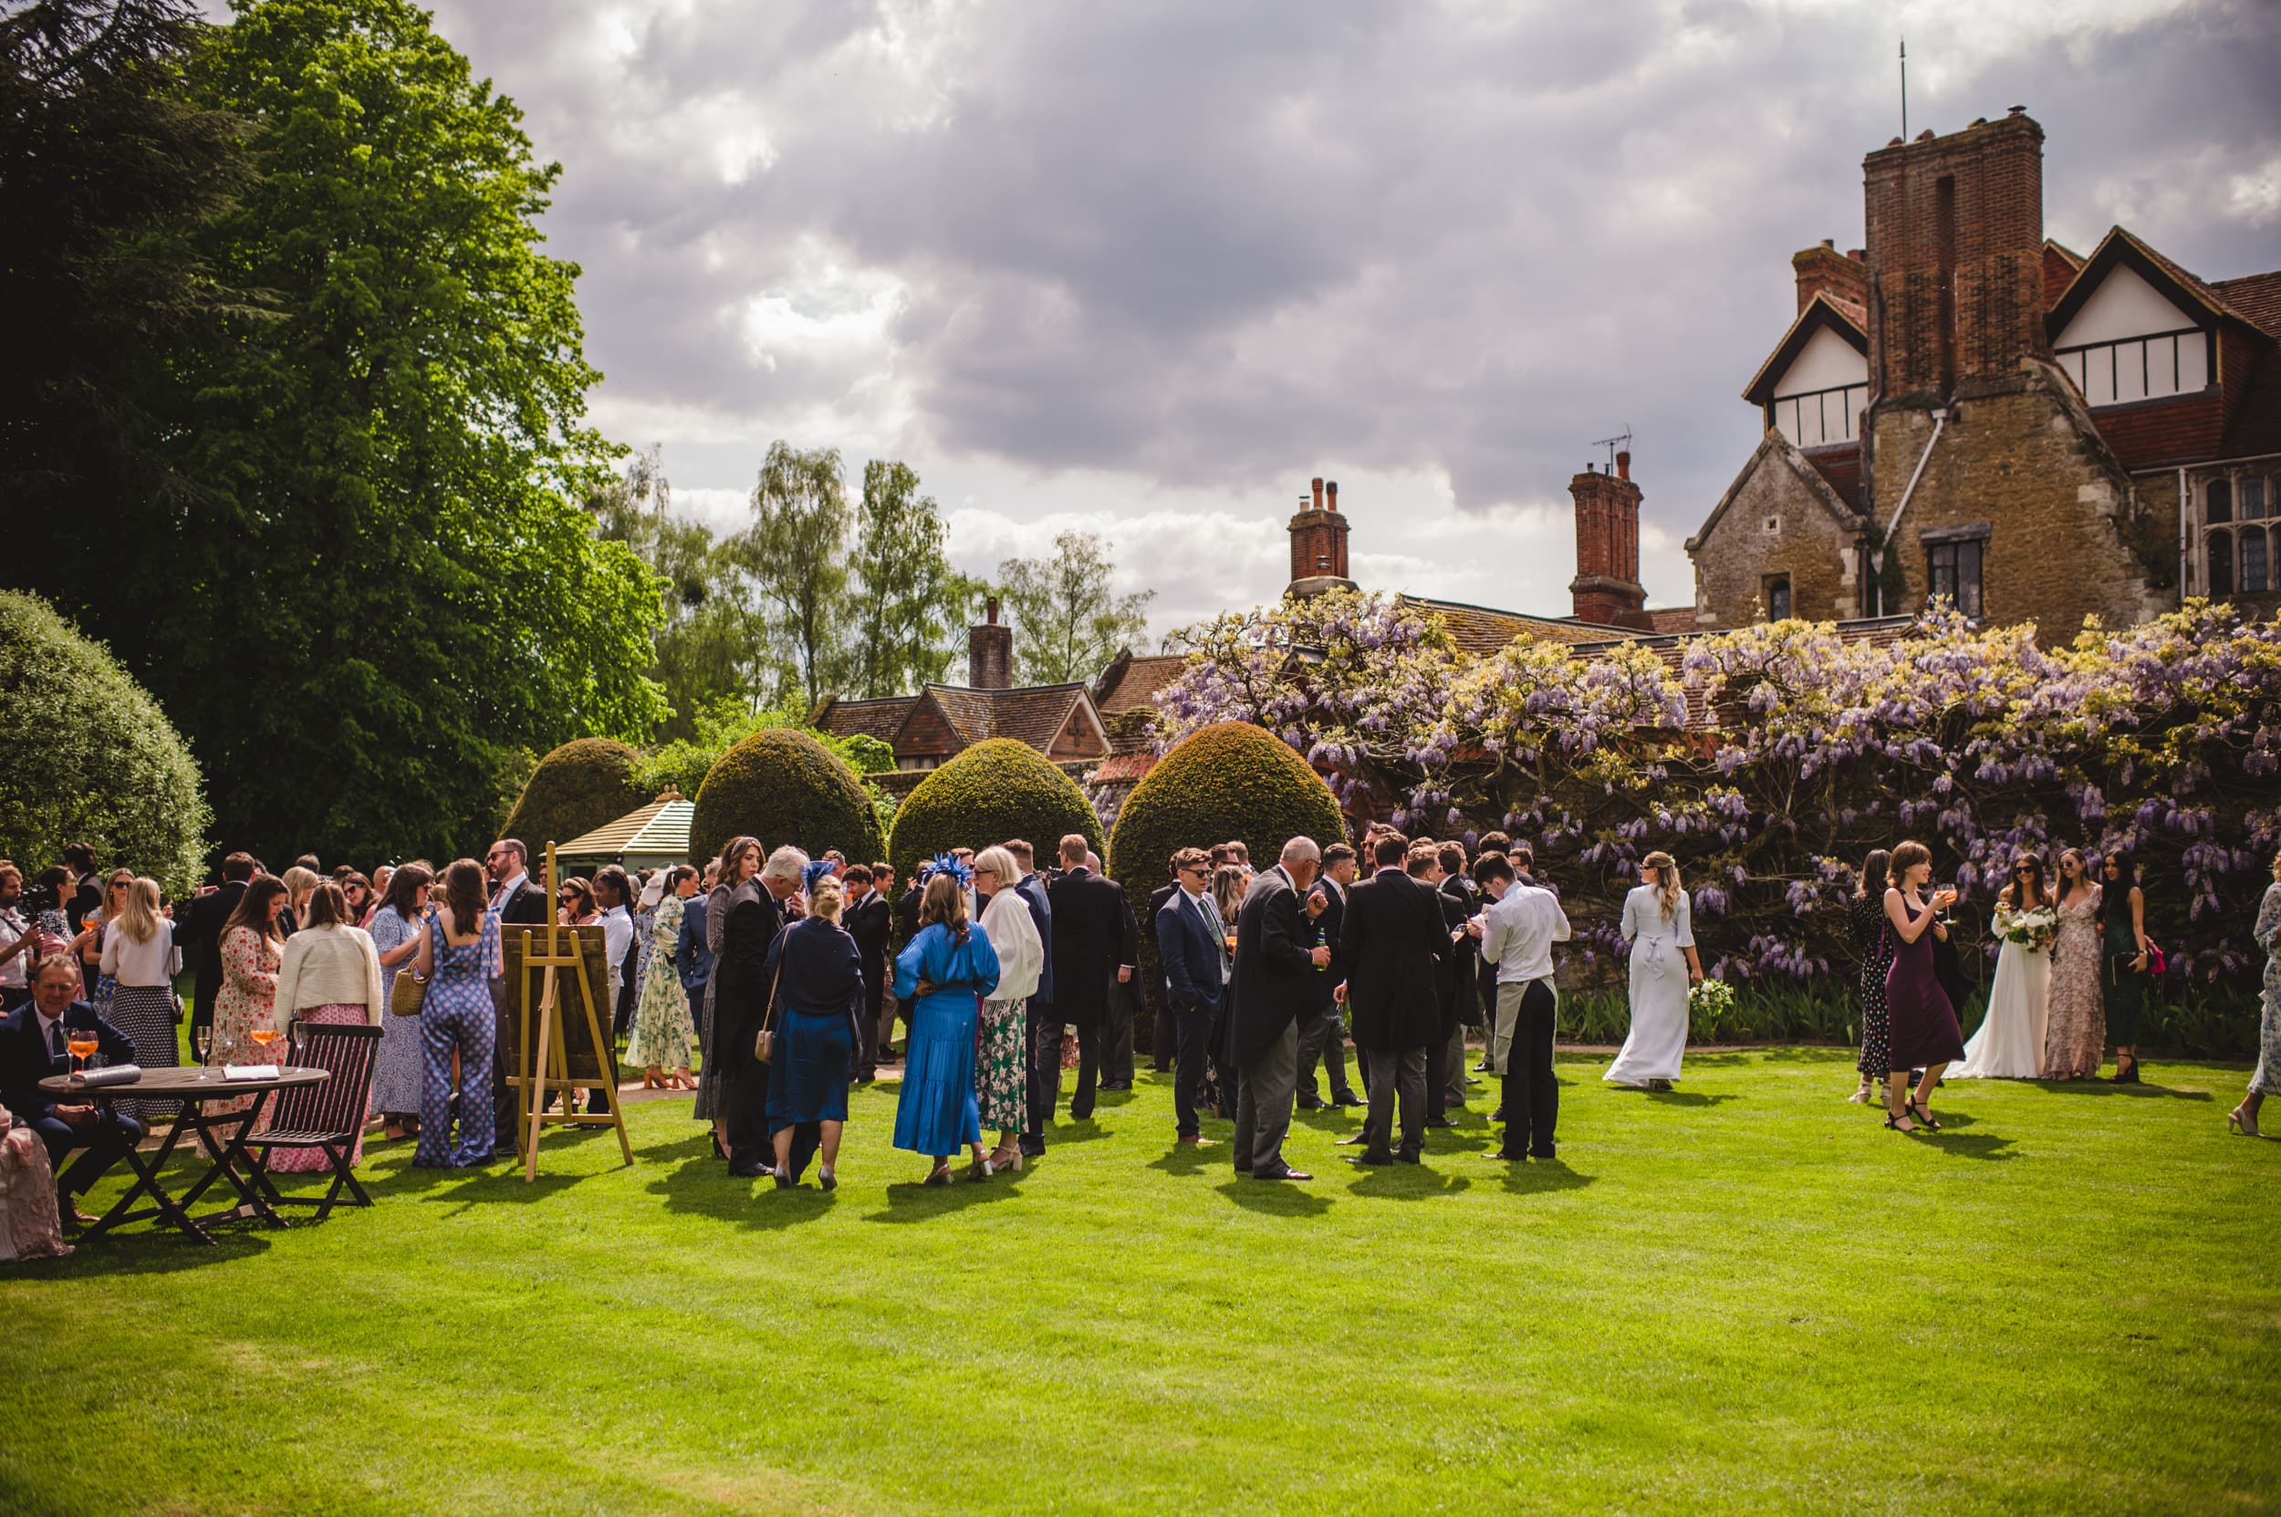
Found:
[[[46,1186],[57,1200],[52,1216],[0,1209],[0,1257],[62,1248],[57,1225],[84,1220],[75,1195],[171,1116],[157,1100],[59,1100],[39,1079],[71,1068],[75,1031],[89,1063],[173,1065],[185,963],[192,1058],[271,1063],[290,1022],[381,1027],[370,1113],[383,1141],[415,1141],[417,1166],[511,1147],[516,1102],[495,1058],[502,940],[547,919],[602,933],[609,1056],[623,1043],[646,1088],[691,1090],[730,1173],[778,1186],[801,1184],[812,1161],[837,1186],[849,1088],[896,1056],[894,1145],[926,1159],[926,1184],[951,1184],[960,1154],[976,1179],[1020,1170],[1045,1152],[1065,1043],[1074,1120],[1099,1090],[1131,1086],[1143,931],[1156,947],[1152,1052],[1172,1072],[1175,1143],[1211,1147],[1211,1111],[1234,1120],[1236,1173],[1309,1179],[1282,1152],[1293,1111],[1357,1106],[1362,1131],[1344,1141],[1362,1150],[1353,1163],[1417,1163],[1426,1129],[1451,1127],[1467,1100],[1478,1031],[1487,1052],[1474,1074],[1496,1074],[1503,1095],[1492,1157],[1556,1154],[1553,944],[1572,928],[1526,844],[1489,833],[1467,858],[1462,844],[1373,824],[1359,849],[1293,837],[1255,869],[1229,842],[1182,849],[1166,869],[1136,912],[1081,835],[1045,867],[1024,839],[953,849],[901,892],[885,862],[737,837],[703,869],[609,865],[563,881],[554,901],[516,839],[484,862],[438,871],[413,860],[372,876],[326,874],[315,858],[271,874],[230,853],[219,883],[173,903],[132,869],[100,871],[84,846],[30,881],[0,860],[0,1193]],[[1932,885],[1918,842],[1864,860],[1848,908],[1861,958],[1852,1100],[1882,1104],[1886,1127],[1937,1131],[1943,1077],[2092,1079],[2108,1045],[2112,1079],[2140,1081],[2140,1011],[2162,960],[2133,860],[2064,849],[2053,874],[2037,851],[2014,858],[1996,897],[1987,1015],[1966,1043],[1969,983],[1948,917],[1957,890]],[[1670,853],[1642,860],[1617,931],[1631,1027],[1604,1079],[1667,1090],[1690,985],[1704,979]],[[2229,1113],[2251,1136],[2281,1081],[2281,858],[2256,942],[2267,951],[2260,1058]],[[404,974],[420,981],[415,1015],[392,1011]],[[588,1095],[591,1109],[611,1100]],[[57,1189],[73,1150],[89,1152]],[[324,1166],[317,1150],[269,1157],[274,1170]],[[11,1186],[18,1175],[27,1184]]]

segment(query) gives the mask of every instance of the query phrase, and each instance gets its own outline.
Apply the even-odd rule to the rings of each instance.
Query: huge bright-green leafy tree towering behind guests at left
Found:
[[[538,249],[559,167],[404,0],[242,0],[185,98],[251,123],[196,242],[267,310],[173,347],[182,486],[57,600],[185,730],[224,842],[463,849],[511,748],[661,714],[652,577],[577,504],[614,449]]]

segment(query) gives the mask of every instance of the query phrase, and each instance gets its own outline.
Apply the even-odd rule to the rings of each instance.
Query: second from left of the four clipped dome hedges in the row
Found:
[[[846,762],[798,728],[769,728],[723,753],[698,787],[689,860],[703,865],[750,833],[764,849],[792,844],[810,858],[839,849],[851,862],[878,858],[878,817]]]

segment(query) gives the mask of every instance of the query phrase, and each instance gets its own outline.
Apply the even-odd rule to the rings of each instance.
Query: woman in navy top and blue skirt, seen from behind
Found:
[[[762,981],[776,985],[769,1138],[778,1191],[794,1186],[792,1141],[807,1122],[817,1125],[823,1150],[817,1184],[839,1186],[839,1131],[849,1120],[855,1015],[862,1011],[862,956],[839,926],[839,881],[817,878],[807,887],[807,915],[776,935],[760,965]]]

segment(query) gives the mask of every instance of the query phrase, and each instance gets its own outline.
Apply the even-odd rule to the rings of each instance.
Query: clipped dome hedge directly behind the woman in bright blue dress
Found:
[[[1038,865],[1047,865],[1070,833],[1083,833],[1095,853],[1109,853],[1102,819],[1077,780],[1029,744],[992,737],[926,776],[896,808],[887,862],[908,881],[919,860],[949,849],[981,853],[1020,837],[1038,851]]]

